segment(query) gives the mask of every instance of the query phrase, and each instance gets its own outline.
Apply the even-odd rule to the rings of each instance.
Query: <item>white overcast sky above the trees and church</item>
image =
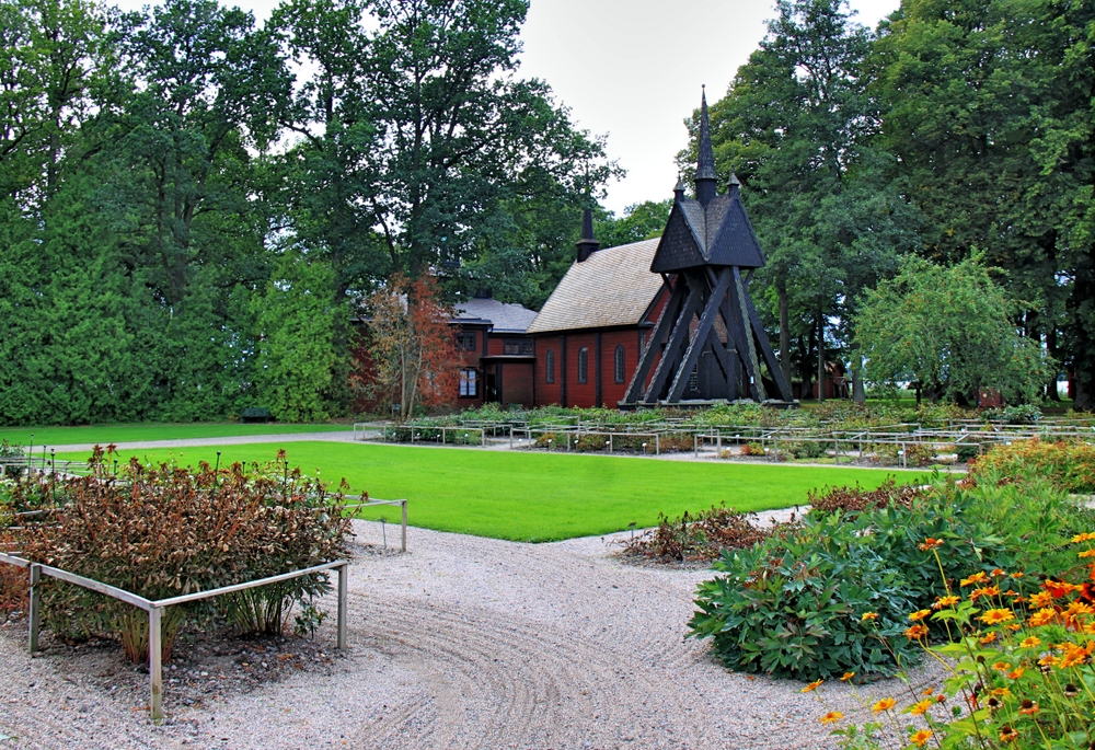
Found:
[[[149,0],[114,0],[138,10]],[[263,22],[277,0],[221,0]],[[688,142],[684,118],[700,85],[721,99],[763,38],[772,0],[531,0],[519,74],[540,78],[579,127],[608,136],[608,154],[627,171],[608,186],[616,214],[672,195],[673,155]],[[899,0],[851,0],[874,27]]]

